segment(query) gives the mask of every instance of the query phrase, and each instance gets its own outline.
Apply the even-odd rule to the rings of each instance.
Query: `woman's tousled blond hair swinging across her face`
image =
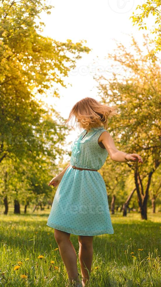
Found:
[[[104,129],[108,127],[108,118],[113,115],[117,115],[115,107],[109,107],[106,104],[101,104],[93,98],[83,98],[73,106],[69,113],[68,119],[64,124],[69,124],[69,121],[75,117],[74,124],[71,123],[71,127],[74,125],[79,128],[86,129],[89,131],[93,127],[103,126]]]

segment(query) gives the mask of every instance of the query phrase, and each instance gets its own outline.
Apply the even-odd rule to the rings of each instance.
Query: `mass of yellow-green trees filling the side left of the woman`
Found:
[[[36,24],[42,11],[51,6],[43,1],[0,1],[0,195],[8,213],[20,213],[20,203],[48,202],[47,182],[55,160],[64,153],[68,134],[64,119],[36,95],[52,88],[53,102],[58,85],[75,67],[76,60],[90,49],[83,41],[57,42],[43,37],[43,23]],[[50,195],[49,195],[50,194]]]

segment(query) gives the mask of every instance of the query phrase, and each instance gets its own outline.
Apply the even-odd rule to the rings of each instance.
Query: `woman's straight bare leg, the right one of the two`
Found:
[[[79,261],[81,264],[81,274],[83,277],[83,283],[89,279],[89,274],[91,272],[92,267],[92,259],[93,259],[93,236],[78,236],[79,241]],[[87,269],[85,269],[87,268]]]

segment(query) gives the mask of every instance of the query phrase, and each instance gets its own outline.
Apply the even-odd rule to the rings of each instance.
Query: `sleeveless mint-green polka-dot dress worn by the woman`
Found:
[[[58,185],[47,225],[75,235],[113,234],[105,182],[98,171],[108,156],[98,144],[104,127],[84,130],[71,145],[70,166]],[[108,131],[107,131],[108,132]]]

